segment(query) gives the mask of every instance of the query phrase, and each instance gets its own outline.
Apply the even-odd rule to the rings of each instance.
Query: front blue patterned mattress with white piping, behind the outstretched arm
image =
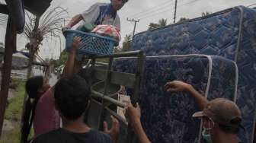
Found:
[[[114,61],[114,71],[134,73],[135,61],[117,59]],[[139,103],[142,126],[149,139],[153,143],[191,143],[200,140],[200,119],[191,117],[199,110],[195,99],[186,92],[165,92],[166,82],[185,81],[210,99],[226,97],[233,100],[237,71],[235,62],[219,56],[147,57]]]

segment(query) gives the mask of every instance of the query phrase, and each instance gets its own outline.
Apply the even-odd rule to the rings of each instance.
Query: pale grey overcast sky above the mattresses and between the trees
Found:
[[[1,0],[2,1],[2,0]],[[53,0],[51,7],[62,6],[67,8],[69,16],[85,11],[95,2],[110,2],[109,0]],[[214,13],[237,5],[252,5],[255,0],[178,0],[177,20],[180,17],[200,17],[202,12]],[[256,5],[254,5],[256,7]],[[174,0],[129,0],[124,7],[118,11],[121,21],[122,40],[126,34],[133,32],[133,23],[126,18],[140,20],[136,27],[136,33],[147,30],[149,23],[157,23],[159,19],[166,18],[168,24],[173,22]],[[5,38],[5,29],[0,27],[0,42]],[[27,40],[18,37],[18,49],[23,49]],[[62,48],[63,49],[63,48]],[[43,42],[40,47],[40,56],[43,58],[57,58],[59,56],[59,44]]]

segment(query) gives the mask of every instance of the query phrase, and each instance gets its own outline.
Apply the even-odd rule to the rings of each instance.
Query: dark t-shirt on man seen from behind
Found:
[[[69,132],[66,129],[56,129],[39,135],[32,143],[113,143],[109,135],[91,130],[86,133]]]

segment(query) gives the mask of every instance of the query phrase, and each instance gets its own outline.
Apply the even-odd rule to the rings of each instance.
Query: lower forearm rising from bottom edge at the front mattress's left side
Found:
[[[144,130],[142,128],[142,124],[139,120],[134,122],[132,126],[133,126],[133,130],[139,140],[139,143],[151,143],[151,141],[149,141],[149,138],[147,137],[146,133],[144,132]]]

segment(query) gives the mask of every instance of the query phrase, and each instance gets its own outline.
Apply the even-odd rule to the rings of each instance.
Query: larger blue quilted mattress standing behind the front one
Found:
[[[252,142],[256,112],[256,10],[239,6],[138,33],[132,49],[146,56],[206,54],[223,56],[238,65],[238,97],[242,110],[243,142]]]

